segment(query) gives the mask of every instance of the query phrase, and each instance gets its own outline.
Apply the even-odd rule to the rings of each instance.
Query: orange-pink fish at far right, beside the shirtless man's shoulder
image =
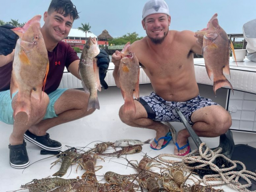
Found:
[[[234,53],[233,44],[230,42],[226,32],[219,26],[217,16],[217,13],[213,15],[206,29],[195,32],[195,34],[203,35],[203,58],[205,59],[206,71],[210,79],[211,74],[213,74],[213,90],[215,94],[216,90],[223,86],[229,86],[233,91],[231,83],[223,73],[230,75],[230,47]]]

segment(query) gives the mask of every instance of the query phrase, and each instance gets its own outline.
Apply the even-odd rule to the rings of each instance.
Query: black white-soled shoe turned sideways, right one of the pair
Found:
[[[24,138],[27,141],[34,143],[35,145],[48,151],[59,151],[62,148],[60,142],[50,139],[49,133],[46,133],[46,135],[43,136],[37,136],[27,130],[24,134]]]

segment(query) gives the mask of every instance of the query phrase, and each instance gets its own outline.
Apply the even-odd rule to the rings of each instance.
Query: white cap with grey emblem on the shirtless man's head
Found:
[[[155,13],[164,13],[169,14],[169,8],[165,1],[163,0],[149,0],[146,2],[142,11],[142,20],[147,17],[147,15],[155,14]]]

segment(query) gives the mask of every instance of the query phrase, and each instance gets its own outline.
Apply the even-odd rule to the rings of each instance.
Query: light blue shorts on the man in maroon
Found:
[[[45,117],[43,117],[43,119],[58,117],[54,110],[54,104],[66,90],[67,89],[57,89],[48,95],[50,102],[47,106],[46,114]],[[15,94],[13,94],[13,97]],[[13,125],[14,122],[13,107],[11,107],[10,90],[0,92],[0,121],[10,125]]]

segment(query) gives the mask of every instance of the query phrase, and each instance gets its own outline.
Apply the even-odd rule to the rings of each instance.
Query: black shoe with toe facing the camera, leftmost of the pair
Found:
[[[9,145],[10,165],[17,169],[23,169],[29,166],[29,157],[27,156],[26,142],[21,145]]]

